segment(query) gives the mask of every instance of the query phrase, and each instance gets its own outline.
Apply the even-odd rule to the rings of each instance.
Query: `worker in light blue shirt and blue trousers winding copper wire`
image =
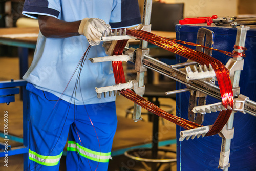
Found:
[[[95,87],[115,81],[111,62],[88,58],[106,56],[103,30],[141,23],[138,1],[25,0],[23,14],[38,18],[40,28],[23,77],[30,91],[28,170],[58,170],[67,137],[67,170],[107,170],[117,126],[115,97],[98,99]],[[78,65],[89,42],[95,46]]]

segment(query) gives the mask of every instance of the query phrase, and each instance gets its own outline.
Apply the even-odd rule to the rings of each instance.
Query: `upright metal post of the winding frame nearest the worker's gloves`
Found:
[[[151,18],[151,9],[152,9],[152,0],[145,0],[144,1],[144,10],[143,10],[143,17],[142,17],[142,25],[150,25],[150,18]],[[140,41],[140,49],[146,50],[147,49],[147,41],[141,40]],[[144,74],[145,72],[137,71],[137,81],[138,87],[144,86]],[[141,120],[141,106],[138,104],[134,104],[134,114],[133,120],[137,122]]]

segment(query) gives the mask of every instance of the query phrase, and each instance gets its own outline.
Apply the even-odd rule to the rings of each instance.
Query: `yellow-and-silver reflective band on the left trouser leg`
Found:
[[[62,152],[57,156],[43,156],[29,149],[29,159],[45,166],[55,166],[59,163]]]

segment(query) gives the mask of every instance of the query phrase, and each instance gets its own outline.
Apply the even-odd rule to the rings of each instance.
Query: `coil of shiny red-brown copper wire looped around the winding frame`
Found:
[[[227,68],[221,63],[219,60],[206,55],[202,52],[196,51],[194,49],[188,48],[184,45],[180,45],[177,42],[181,42],[183,44],[188,44],[188,45],[193,45],[193,46],[200,46],[197,44],[189,43],[189,42],[184,42],[184,41],[179,41],[179,40],[174,40],[174,39],[168,39],[164,38],[161,36],[157,36],[153,33],[142,31],[142,30],[127,30],[127,35],[131,35],[134,37],[137,37],[141,40],[145,40],[147,42],[150,42],[154,45],[157,45],[163,49],[166,49],[168,51],[174,52],[180,56],[183,56],[187,59],[196,61],[200,63],[201,65],[206,65],[209,67],[209,64],[212,65],[214,68],[214,71],[216,73],[216,78],[219,83],[220,87],[220,93],[222,97],[222,103],[227,108],[227,106],[231,106],[233,108],[233,90],[232,90],[232,85],[229,77],[229,71]],[[126,45],[126,40],[120,40],[117,43],[117,46],[114,49],[113,55],[119,55],[122,54],[122,50],[124,46]],[[212,48],[209,48],[212,49]],[[215,50],[215,49],[214,49]],[[232,53],[226,52],[226,51],[221,51],[218,50],[219,52],[222,52],[226,55],[231,56]],[[119,83],[125,83],[125,78],[124,78],[124,72],[122,69],[122,63],[121,62],[112,62],[113,65],[113,71],[116,79],[116,84]],[[144,98],[140,97],[139,95],[136,95],[134,92],[131,90],[122,90],[121,94],[125,96],[126,98],[129,98],[133,102],[137,103],[138,105],[141,105],[143,108],[147,109],[148,111],[153,112],[156,115],[159,115],[169,121],[172,121],[173,123],[184,127],[185,129],[192,129],[195,127],[200,127],[201,125],[196,124],[194,122],[185,120],[183,118],[174,116],[172,114],[168,114],[167,112],[161,110],[154,104],[148,102]],[[210,131],[206,134],[206,136],[210,135],[215,135],[219,133],[223,126],[226,124],[227,120],[229,119],[231,115],[232,110],[227,110],[227,111],[221,111],[220,114],[218,115],[215,123],[211,127]]]

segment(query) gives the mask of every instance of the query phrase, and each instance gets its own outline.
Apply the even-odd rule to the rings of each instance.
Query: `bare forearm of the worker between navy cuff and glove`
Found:
[[[65,22],[51,16],[39,15],[38,23],[40,31],[45,37],[67,38],[80,35],[78,28],[81,21]]]

